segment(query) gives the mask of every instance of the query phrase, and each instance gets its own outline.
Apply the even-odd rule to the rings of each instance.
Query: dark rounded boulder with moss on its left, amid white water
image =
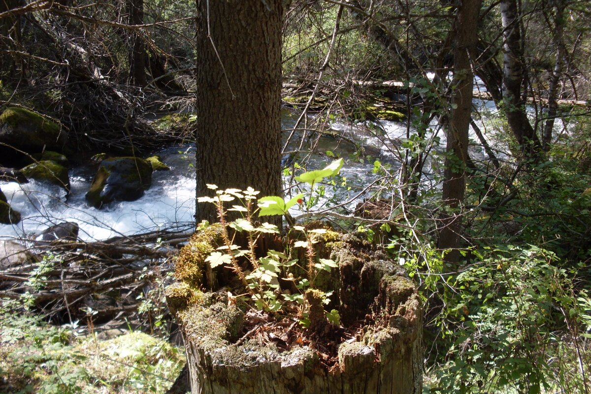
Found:
[[[152,165],[137,157],[113,157],[100,162],[86,193],[86,201],[95,208],[112,201],[135,201],[152,184]]]

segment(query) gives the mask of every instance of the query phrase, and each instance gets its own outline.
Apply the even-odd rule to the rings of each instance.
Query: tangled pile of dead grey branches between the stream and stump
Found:
[[[129,315],[137,308],[137,295],[163,277],[158,271],[167,272],[168,258],[187,237],[186,232],[150,232],[102,242],[24,241],[37,261],[0,269],[0,297],[17,299],[28,292],[40,311],[57,323],[66,318],[64,312],[67,318],[85,317],[80,308],[89,305],[96,311],[95,320],[108,320],[118,311]],[[57,258],[35,287],[31,278],[48,254]]]

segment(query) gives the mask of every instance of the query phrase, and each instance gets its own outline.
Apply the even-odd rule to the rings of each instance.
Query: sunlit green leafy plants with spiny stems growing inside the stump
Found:
[[[314,185],[320,183],[326,177],[337,175],[343,165],[343,159],[337,159],[327,165],[323,170],[304,172],[297,180],[307,182],[311,185],[311,191]],[[268,250],[266,256],[257,256],[255,249],[261,236],[269,233],[279,233],[279,229],[274,224],[257,223],[254,217],[288,215],[288,210],[301,203],[304,194],[298,194],[288,201],[277,196],[261,197],[257,199],[258,191],[252,188],[239,190],[229,188],[226,190],[217,190],[217,185],[207,185],[211,190],[215,190],[213,197],[199,197],[199,203],[212,203],[216,206],[217,215],[221,224],[221,243],[217,250],[212,250],[204,259],[211,268],[217,266],[228,266],[231,268],[243,286],[248,291],[255,308],[258,310],[270,312],[285,312],[300,317],[302,324],[306,325],[306,316],[309,313],[309,303],[306,301],[306,294],[309,289],[314,289],[319,272],[332,271],[337,268],[334,261],[330,259],[316,258],[314,245],[323,240],[323,236],[328,230],[306,229],[304,226],[293,226],[290,229],[290,237],[294,239],[293,243],[285,246],[284,251]],[[232,203],[232,207],[225,208],[225,203]],[[237,204],[235,204],[237,203]],[[256,204],[255,204],[256,203]],[[232,212],[238,215],[237,219],[228,222],[228,213]],[[233,243],[233,236],[228,229],[233,229],[236,233],[246,233],[248,239],[248,248]],[[206,229],[205,229],[206,230]],[[290,249],[302,248],[305,258],[290,259]],[[293,253],[291,253],[293,254]],[[245,271],[239,263],[240,258],[246,258],[252,270]],[[303,275],[301,275],[303,273]],[[284,292],[280,286],[279,279],[282,281],[293,282],[293,288],[297,289],[298,294]],[[314,290],[316,291],[316,290]],[[329,302],[330,294],[317,291],[322,294],[323,303]],[[339,321],[337,311],[326,312],[329,321]]]

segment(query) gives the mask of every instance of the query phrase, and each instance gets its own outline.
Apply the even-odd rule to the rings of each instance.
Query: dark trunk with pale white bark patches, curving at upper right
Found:
[[[534,154],[540,148],[540,139],[531,126],[525,112],[525,93],[521,94],[524,83],[525,65],[519,27],[517,0],[501,1],[503,25],[503,98],[509,128],[515,135],[522,152]]]

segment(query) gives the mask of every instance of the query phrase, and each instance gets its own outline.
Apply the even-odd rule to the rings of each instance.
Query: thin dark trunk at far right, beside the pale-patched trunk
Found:
[[[556,64],[550,76],[550,86],[548,87],[548,119],[544,125],[544,135],[542,136],[542,149],[544,151],[550,150],[550,142],[552,141],[552,130],[554,129],[554,117],[558,110],[558,102],[556,97],[558,95],[558,83],[560,83],[560,76],[564,64],[564,2],[563,0],[554,0],[554,8],[556,8],[556,17],[554,18],[554,48],[556,49]]]

